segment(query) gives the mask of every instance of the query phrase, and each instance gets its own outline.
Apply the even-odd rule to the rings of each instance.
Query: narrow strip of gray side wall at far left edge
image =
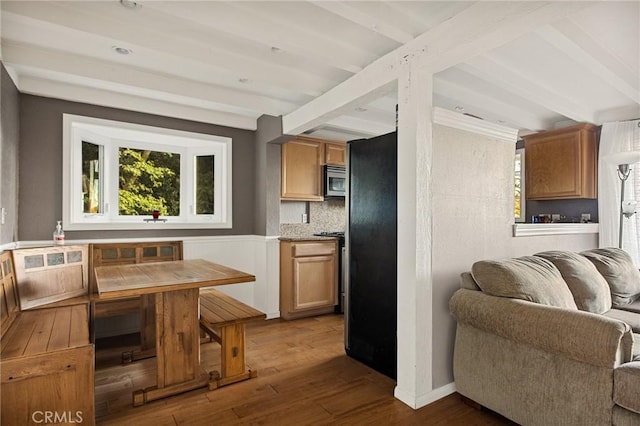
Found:
[[[0,207],[6,209],[0,225],[0,244],[15,241],[18,233],[18,143],[20,93],[2,65],[0,80]]]

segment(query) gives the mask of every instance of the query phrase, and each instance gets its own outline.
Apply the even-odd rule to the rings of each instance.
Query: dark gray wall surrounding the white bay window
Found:
[[[3,111],[4,112],[4,111]],[[67,240],[254,233],[255,132],[39,96],[20,96],[18,240],[48,240],[62,218],[62,114],[233,138],[233,228],[158,231],[75,231]]]

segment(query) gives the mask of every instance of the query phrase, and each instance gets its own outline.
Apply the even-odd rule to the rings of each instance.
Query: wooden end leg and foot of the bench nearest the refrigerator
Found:
[[[258,375],[245,366],[244,324],[233,324],[220,328],[221,374],[209,383],[215,389],[231,383],[248,380]]]

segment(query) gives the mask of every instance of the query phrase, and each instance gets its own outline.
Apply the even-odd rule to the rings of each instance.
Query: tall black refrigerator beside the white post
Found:
[[[396,378],[397,136],[347,143],[345,350]]]

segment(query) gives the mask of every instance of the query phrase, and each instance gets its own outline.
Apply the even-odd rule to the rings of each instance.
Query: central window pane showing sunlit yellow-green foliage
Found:
[[[120,215],[180,215],[180,154],[119,149]]]

